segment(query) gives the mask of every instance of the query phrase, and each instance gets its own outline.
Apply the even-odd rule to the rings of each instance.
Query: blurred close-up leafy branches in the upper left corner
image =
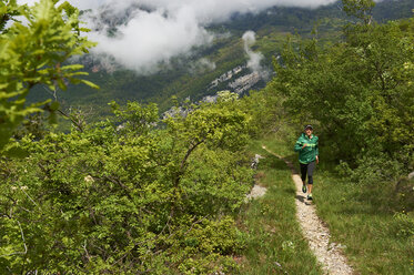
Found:
[[[68,83],[83,82],[85,75],[79,64],[64,64],[69,58],[88,52],[93,45],[80,35],[79,11],[68,2],[55,7],[55,1],[42,0],[33,7],[18,6],[16,1],[0,4],[0,150],[9,142],[13,130],[24,116],[41,112],[53,113],[55,103],[50,100],[26,104],[26,98],[36,85],[67,89]],[[6,24],[16,16],[28,22]]]

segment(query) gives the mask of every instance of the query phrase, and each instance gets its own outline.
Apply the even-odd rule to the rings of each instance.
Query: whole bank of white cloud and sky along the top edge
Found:
[[[33,0],[19,0],[29,4]],[[94,53],[104,53],[119,63],[141,73],[156,71],[160,62],[172,57],[188,54],[194,47],[211,43],[213,34],[205,30],[212,22],[226,21],[234,12],[260,12],[273,6],[317,8],[335,0],[69,0],[80,9],[92,9],[93,13],[104,7],[114,18],[125,14],[132,4],[147,7],[134,9],[128,22],[118,29],[113,38],[107,37],[107,22],[95,18],[84,19],[94,29],[88,37],[99,42]],[[151,10],[151,11],[148,11]],[[103,27],[103,28],[102,28]]]

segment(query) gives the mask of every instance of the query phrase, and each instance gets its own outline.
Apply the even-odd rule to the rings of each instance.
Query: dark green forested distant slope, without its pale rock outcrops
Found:
[[[57,95],[65,108],[85,108],[95,115],[104,116],[110,113],[105,103],[115,100],[127,103],[128,100],[142,103],[155,102],[162,111],[168,110],[171,96],[180,101],[190,96],[193,102],[205,95],[214,95],[218,91],[234,91],[228,84],[242,74],[234,77],[220,86],[209,89],[214,79],[239,67],[245,65],[248,55],[243,49],[242,35],[245,31],[256,32],[256,43],[253,50],[265,58],[262,63],[272,71],[272,57],[280,54],[287,34],[300,33],[310,35],[317,27],[320,42],[335,42],[341,35],[342,27],[350,20],[341,10],[341,3],[335,3],[314,10],[300,8],[272,8],[259,14],[234,14],[230,22],[212,24],[208,30],[216,34],[211,45],[201,47],[191,57],[179,57],[160,72],[141,75],[134,71],[111,67],[109,71],[101,64],[99,58],[84,57],[81,62],[90,72],[89,80],[101,89],[70,85],[69,92],[58,91]],[[374,18],[382,22],[390,19],[410,18],[414,3],[410,0],[382,1],[373,11]],[[209,60],[215,69],[200,67],[200,60]],[[270,79],[265,78],[253,89],[261,89]],[[50,91],[44,86],[34,89],[30,101],[49,99]],[[92,109],[92,110],[91,110]]]

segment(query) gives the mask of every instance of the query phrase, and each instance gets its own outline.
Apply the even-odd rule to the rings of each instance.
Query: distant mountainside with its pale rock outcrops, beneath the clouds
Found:
[[[413,9],[412,0],[386,0],[377,3],[374,18],[378,22],[408,18]],[[110,7],[102,8],[98,13],[100,18],[94,21],[104,24],[97,23],[94,28],[102,28],[110,35],[117,35],[118,28],[122,28],[137,10],[151,12],[151,7],[133,6],[125,13],[111,10]],[[84,11],[88,12],[91,11]],[[186,98],[199,101],[221,90],[244,94],[250,89],[263,88],[270,80],[272,57],[277,57],[286,34],[310,34],[317,23],[320,38],[335,41],[339,39],[339,30],[349,21],[340,3],[317,9],[273,7],[255,13],[234,13],[230,21],[213,22],[205,27],[213,35],[210,43],[199,44],[185,54],[158,62],[153,72],[140,73],[125,69],[113,57],[104,53],[84,55],[75,62],[85,65],[90,73],[88,80],[101,89],[97,91],[84,85],[73,85],[65,92],[59,91],[58,99],[65,108],[88,106],[94,114],[104,116],[109,113],[108,102],[112,100],[119,103],[155,102],[163,111],[171,106],[172,95],[179,101]],[[246,31],[255,33],[255,41],[249,49],[242,39]],[[248,68],[252,54],[262,57],[259,60],[261,71]],[[50,91],[37,88],[30,98],[50,98]]]

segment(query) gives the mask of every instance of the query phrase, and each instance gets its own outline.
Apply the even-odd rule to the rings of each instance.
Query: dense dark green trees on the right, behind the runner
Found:
[[[413,27],[414,19],[349,27],[333,47],[290,40],[282,63],[274,62],[285,106],[302,122],[317,121],[336,162],[355,167],[391,157],[405,171],[412,165]]]

